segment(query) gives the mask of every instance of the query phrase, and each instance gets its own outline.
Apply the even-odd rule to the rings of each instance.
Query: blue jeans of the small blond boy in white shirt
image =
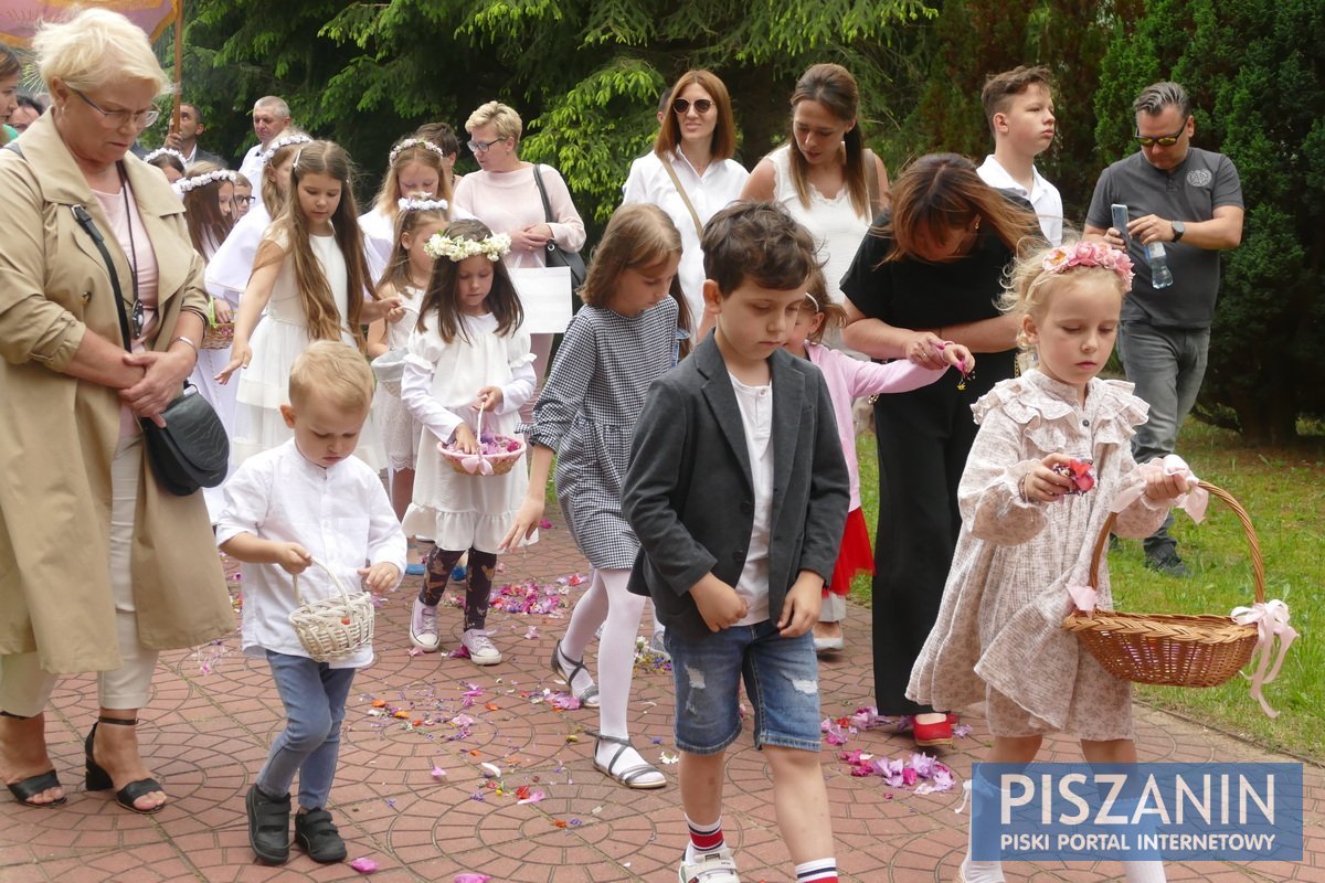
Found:
[[[266,651],[272,678],[285,704],[285,731],[257,774],[269,797],[290,793],[299,774],[299,806],[322,809],[331,794],[335,760],[341,753],[341,721],[354,683],[354,669],[333,669],[307,657]]]

